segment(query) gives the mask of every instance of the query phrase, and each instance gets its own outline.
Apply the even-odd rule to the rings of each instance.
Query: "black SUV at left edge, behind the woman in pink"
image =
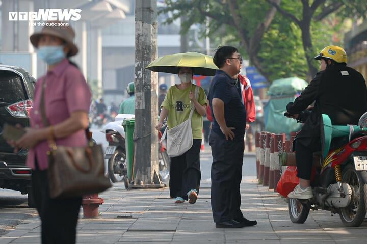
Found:
[[[24,69],[0,65],[0,134],[5,123],[29,126],[36,80]],[[32,194],[32,170],[25,166],[27,150],[14,153],[0,136],[0,187],[28,194],[28,205],[34,207]]]

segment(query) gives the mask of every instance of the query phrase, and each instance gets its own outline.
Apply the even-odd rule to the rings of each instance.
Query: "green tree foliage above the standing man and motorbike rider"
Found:
[[[307,2],[311,6],[315,1],[317,0]],[[347,17],[365,17],[367,13],[365,1],[326,0],[322,3],[311,18],[312,47],[307,49],[308,55],[316,56],[327,45],[343,46],[344,33],[347,31],[343,21]],[[241,16],[241,26],[238,29],[235,28],[233,15],[227,2],[228,0],[166,0],[168,7],[161,12],[173,13],[173,17],[167,19],[167,23],[185,16],[187,21],[182,23],[184,33],[193,24],[205,25],[205,15],[209,16],[211,20],[208,35],[211,37],[212,47],[233,45],[239,48],[245,58],[248,58],[249,50],[246,50],[246,45],[243,44],[253,36],[271,6],[267,0],[237,0],[237,14]],[[299,21],[302,20],[301,0],[282,0],[280,6]],[[337,8],[329,13],[326,11],[334,7]],[[204,36],[205,28],[201,30]],[[241,36],[240,31],[244,35]],[[244,36],[248,39],[244,40]],[[255,55],[261,63],[263,75],[270,81],[289,76],[306,78],[309,66],[305,58],[301,29],[296,22],[278,12],[259,43],[260,47],[255,50]],[[317,61],[312,61],[312,65],[319,66]]]

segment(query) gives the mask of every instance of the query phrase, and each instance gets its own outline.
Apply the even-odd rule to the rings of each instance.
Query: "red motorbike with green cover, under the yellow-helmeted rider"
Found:
[[[314,159],[316,173],[311,177],[314,198],[288,199],[290,219],[304,223],[310,209],[322,209],[338,213],[345,226],[358,227],[367,210],[367,113],[358,126],[332,126],[327,115],[323,125],[324,151],[319,158],[324,159]]]

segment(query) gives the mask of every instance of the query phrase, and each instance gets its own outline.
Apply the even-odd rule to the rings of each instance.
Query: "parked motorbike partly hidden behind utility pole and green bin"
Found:
[[[119,114],[115,121],[109,122],[103,127],[106,140],[109,142],[106,148],[105,159],[108,159],[108,175],[112,182],[122,182],[127,177],[127,161],[125,149],[125,131],[122,126],[124,119],[134,118],[134,115]],[[162,133],[159,132],[159,139]],[[161,181],[168,181],[170,175],[170,160],[167,147],[164,142],[159,143],[159,177]]]

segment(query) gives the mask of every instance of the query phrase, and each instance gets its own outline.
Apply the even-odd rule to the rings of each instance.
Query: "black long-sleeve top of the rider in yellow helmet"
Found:
[[[317,73],[286,109],[290,114],[299,114],[312,102],[315,102],[313,110],[298,138],[319,137],[322,114],[327,114],[333,125],[358,124],[360,116],[367,112],[365,80],[358,71],[336,64]]]

